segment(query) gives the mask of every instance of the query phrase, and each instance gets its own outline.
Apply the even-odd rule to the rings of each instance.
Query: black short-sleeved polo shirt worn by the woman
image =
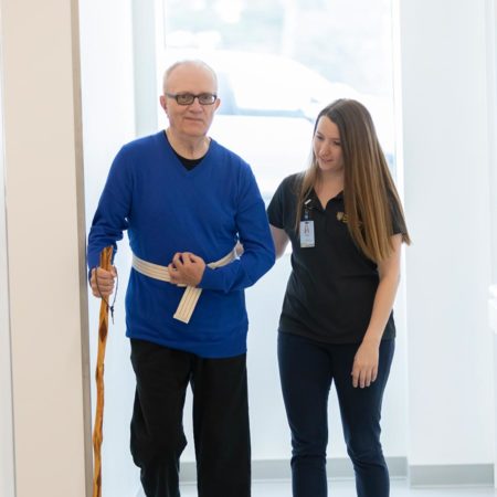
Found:
[[[327,343],[360,342],[368,328],[379,284],[378,267],[353,243],[339,193],[322,209],[315,191],[307,203],[314,221],[315,246],[300,247],[295,233],[297,190],[300,175],[286,178],[268,208],[269,223],[285,230],[292,242],[292,274],[288,279],[279,331],[302,335]],[[402,216],[392,209],[393,233],[403,230]],[[303,218],[305,211],[303,209]],[[393,313],[383,339],[395,336]]]

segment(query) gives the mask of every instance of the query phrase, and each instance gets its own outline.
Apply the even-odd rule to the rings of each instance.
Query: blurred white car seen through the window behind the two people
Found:
[[[168,65],[183,59],[215,70],[221,106],[210,135],[251,165],[265,200],[283,178],[307,167],[314,121],[325,105],[340,97],[368,105],[351,86],[282,55],[166,50]]]

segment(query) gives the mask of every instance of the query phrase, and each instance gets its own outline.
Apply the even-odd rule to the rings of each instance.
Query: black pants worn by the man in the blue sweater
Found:
[[[250,497],[251,445],[245,355],[205,359],[131,339],[136,374],[131,455],[147,497],[179,497],[182,416],[193,392],[199,497]]]

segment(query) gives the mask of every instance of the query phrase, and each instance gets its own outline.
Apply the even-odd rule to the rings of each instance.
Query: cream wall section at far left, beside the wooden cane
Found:
[[[75,7],[0,1],[17,497],[86,491]]]

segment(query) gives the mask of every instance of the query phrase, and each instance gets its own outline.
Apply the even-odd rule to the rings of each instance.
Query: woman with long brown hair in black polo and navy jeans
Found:
[[[278,363],[292,431],[294,497],[327,495],[335,382],[359,497],[387,497],[381,401],[394,350],[402,207],[369,112],[339,99],[316,120],[310,166],[267,209],[277,256],[292,243]]]

